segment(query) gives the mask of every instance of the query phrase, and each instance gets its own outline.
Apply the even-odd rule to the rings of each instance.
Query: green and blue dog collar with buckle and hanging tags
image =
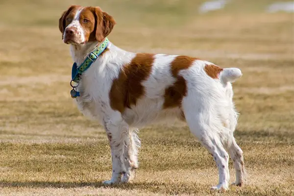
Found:
[[[71,80],[71,87],[73,87],[73,89],[71,90],[72,98],[80,96],[79,92],[75,90],[78,86],[78,82],[80,81],[80,75],[85,72],[92,65],[92,63],[96,61],[98,56],[107,48],[108,44],[109,40],[105,38],[104,41],[98,46],[98,48],[86,57],[86,59],[80,66],[77,67],[77,64],[75,62],[73,63]],[[77,85],[73,85],[73,82],[77,83]]]

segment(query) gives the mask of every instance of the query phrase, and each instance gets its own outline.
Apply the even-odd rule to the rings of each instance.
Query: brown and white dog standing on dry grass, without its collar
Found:
[[[63,42],[71,45],[80,65],[111,32],[112,16],[99,7],[71,6],[59,19]],[[104,184],[129,182],[138,168],[137,129],[164,119],[187,122],[191,132],[213,155],[219,184],[228,189],[229,155],[237,186],[244,183],[243,151],[233,132],[238,114],[231,82],[237,68],[220,68],[183,55],[133,53],[109,43],[81,75],[76,103],[81,112],[104,125],[112,155],[112,178]],[[227,151],[228,153],[227,153]]]

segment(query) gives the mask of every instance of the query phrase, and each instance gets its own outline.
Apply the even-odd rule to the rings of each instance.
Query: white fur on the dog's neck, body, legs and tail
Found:
[[[73,60],[79,65],[97,45],[96,42],[71,46]],[[181,111],[191,132],[217,163],[220,178],[219,184],[213,189],[228,189],[229,155],[236,168],[236,184],[244,182],[243,152],[233,137],[238,115],[229,83],[242,75],[239,69],[224,69],[220,74],[221,79],[213,79],[204,71],[204,66],[212,63],[195,60],[189,69],[179,72],[185,78],[188,89],[187,96],[182,100],[182,108],[162,109],[165,89],[175,82],[170,64],[176,55],[157,54],[150,75],[142,82],[146,94],[121,114],[111,108],[109,91],[113,80],[118,78],[123,67],[136,54],[112,43],[109,43],[108,49],[81,75],[77,89],[81,96],[74,99],[84,115],[104,125],[109,138],[113,171],[111,180],[104,184],[128,182],[138,168],[138,148],[141,143],[136,135],[137,129],[133,131],[130,127],[180,118]]]

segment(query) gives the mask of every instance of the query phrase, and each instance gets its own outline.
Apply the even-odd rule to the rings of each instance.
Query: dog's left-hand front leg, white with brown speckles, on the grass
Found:
[[[104,185],[119,183],[125,174],[125,147],[129,145],[128,125],[122,118],[105,118],[104,128],[110,142],[112,157],[111,180],[103,181]]]

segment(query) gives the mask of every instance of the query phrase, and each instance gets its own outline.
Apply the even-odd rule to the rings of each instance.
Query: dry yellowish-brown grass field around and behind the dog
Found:
[[[266,13],[277,0],[232,0],[200,15],[204,0],[1,0],[0,196],[294,194],[294,16]],[[98,5],[117,20],[109,39],[131,51],[186,54],[238,67],[235,137],[244,187],[209,189],[218,171],[183,123],[140,131],[136,179],[102,186],[111,155],[102,126],[69,91],[72,60],[58,19],[70,4]],[[235,172],[230,161],[231,182]]]

